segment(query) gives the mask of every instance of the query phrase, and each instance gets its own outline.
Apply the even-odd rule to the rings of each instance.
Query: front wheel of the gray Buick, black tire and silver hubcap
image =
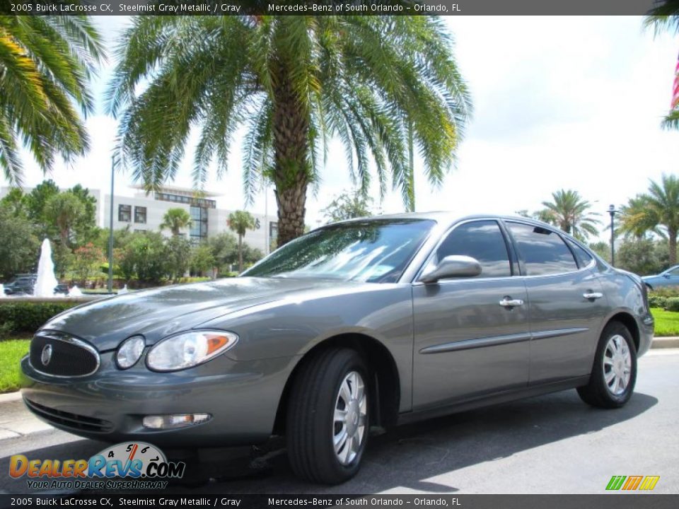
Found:
[[[339,484],[359,471],[370,423],[369,380],[352,349],[323,351],[302,366],[287,414],[288,456],[298,476]]]

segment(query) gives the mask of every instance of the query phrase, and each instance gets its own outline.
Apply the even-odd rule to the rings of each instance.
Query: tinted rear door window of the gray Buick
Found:
[[[557,233],[521,223],[507,223],[507,226],[526,262],[528,276],[562,274],[578,269],[571,250]]]

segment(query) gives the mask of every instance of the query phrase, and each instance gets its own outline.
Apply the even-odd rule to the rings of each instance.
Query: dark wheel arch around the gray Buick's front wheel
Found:
[[[377,339],[358,332],[337,334],[321,341],[312,349],[304,353],[302,358],[293,368],[286,380],[283,392],[279,399],[276,417],[274,419],[273,433],[283,435],[285,433],[286,415],[289,406],[289,397],[294,380],[303,365],[313,361],[313,358],[321,351],[331,348],[351,348],[359,352],[365,359],[373,377],[373,397],[371,413],[373,424],[390,428],[395,425],[400,404],[400,377],[396,362],[384,344]]]

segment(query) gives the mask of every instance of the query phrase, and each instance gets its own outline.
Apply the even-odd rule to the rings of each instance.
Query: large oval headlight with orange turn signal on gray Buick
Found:
[[[192,331],[163,339],[146,356],[154,371],[176,371],[202,364],[230,349],[238,341],[233,332]]]

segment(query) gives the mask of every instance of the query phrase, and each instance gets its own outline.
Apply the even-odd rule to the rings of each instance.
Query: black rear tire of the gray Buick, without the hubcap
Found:
[[[624,390],[620,390],[620,387],[613,387],[611,389],[606,382],[606,377],[614,370],[613,365],[610,365],[611,357],[607,355],[607,347],[609,341],[615,337],[622,337],[625,340],[629,356],[631,357],[629,363],[629,381],[625,385]],[[604,365],[605,358],[608,359],[608,368]],[[635,382],[637,382],[637,349],[634,346],[632,334],[620,322],[610,322],[601,333],[589,383],[583,387],[578,387],[578,394],[585,403],[592,406],[605,409],[619,408],[632,397]]]

